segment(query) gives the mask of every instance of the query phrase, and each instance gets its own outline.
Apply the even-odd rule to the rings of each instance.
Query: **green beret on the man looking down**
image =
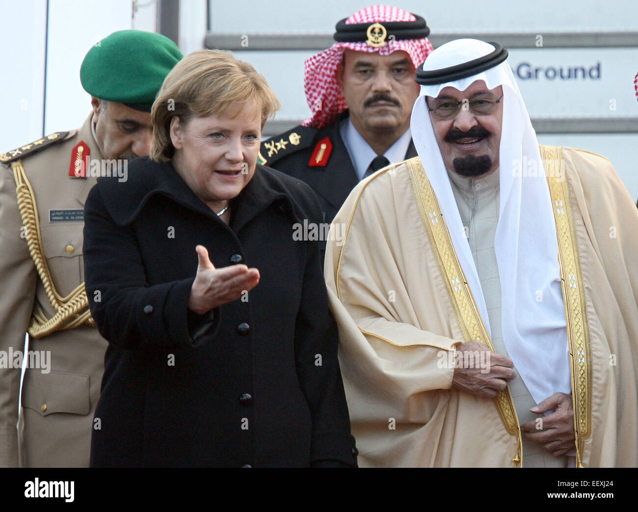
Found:
[[[80,82],[91,96],[151,112],[159,87],[182,57],[177,45],[161,34],[121,30],[89,50]]]

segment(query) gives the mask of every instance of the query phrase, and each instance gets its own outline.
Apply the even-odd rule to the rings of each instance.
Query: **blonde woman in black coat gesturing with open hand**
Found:
[[[94,467],[356,466],[304,183],[258,165],[279,103],[229,52],[184,57],[149,158],[85,206],[91,312],[109,342]]]

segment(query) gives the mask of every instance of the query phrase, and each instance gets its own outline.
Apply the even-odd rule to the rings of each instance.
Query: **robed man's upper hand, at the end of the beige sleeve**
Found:
[[[472,393],[473,395],[496,396],[499,391],[507,388],[507,381],[516,377],[514,370],[514,362],[507,356],[501,356],[492,352],[485,345],[479,342],[467,342],[457,347],[456,352],[461,352],[465,356],[465,352],[474,352],[471,360],[475,361],[475,368],[454,368],[454,378],[452,379],[452,388]],[[478,352],[478,354],[477,354]],[[485,352],[485,354],[480,354]],[[454,354],[456,361],[457,354]],[[458,356],[460,357],[460,356]],[[463,357],[463,361],[466,358]],[[477,361],[486,364],[481,368]]]

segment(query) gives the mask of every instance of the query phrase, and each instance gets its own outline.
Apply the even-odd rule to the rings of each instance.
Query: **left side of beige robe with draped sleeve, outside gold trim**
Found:
[[[390,174],[359,184],[333,222],[332,237],[345,236],[327,244],[325,278],[363,466],[433,465],[445,410],[457,398],[448,391],[454,368],[445,363],[462,335],[449,328],[456,322],[442,280],[431,279],[438,268],[415,202],[408,195],[397,204],[408,211],[382,215],[394,208],[395,193],[412,193],[407,174],[403,178],[405,190],[393,190]],[[411,220],[399,228],[397,218]]]

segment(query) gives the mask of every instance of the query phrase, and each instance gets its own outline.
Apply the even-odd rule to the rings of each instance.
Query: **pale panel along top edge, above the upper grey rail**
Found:
[[[396,5],[424,17],[436,32],[633,31],[638,20],[634,0],[456,0],[454,3],[401,0]],[[332,32],[336,22],[374,5],[361,0],[211,0],[211,30],[223,33]]]

